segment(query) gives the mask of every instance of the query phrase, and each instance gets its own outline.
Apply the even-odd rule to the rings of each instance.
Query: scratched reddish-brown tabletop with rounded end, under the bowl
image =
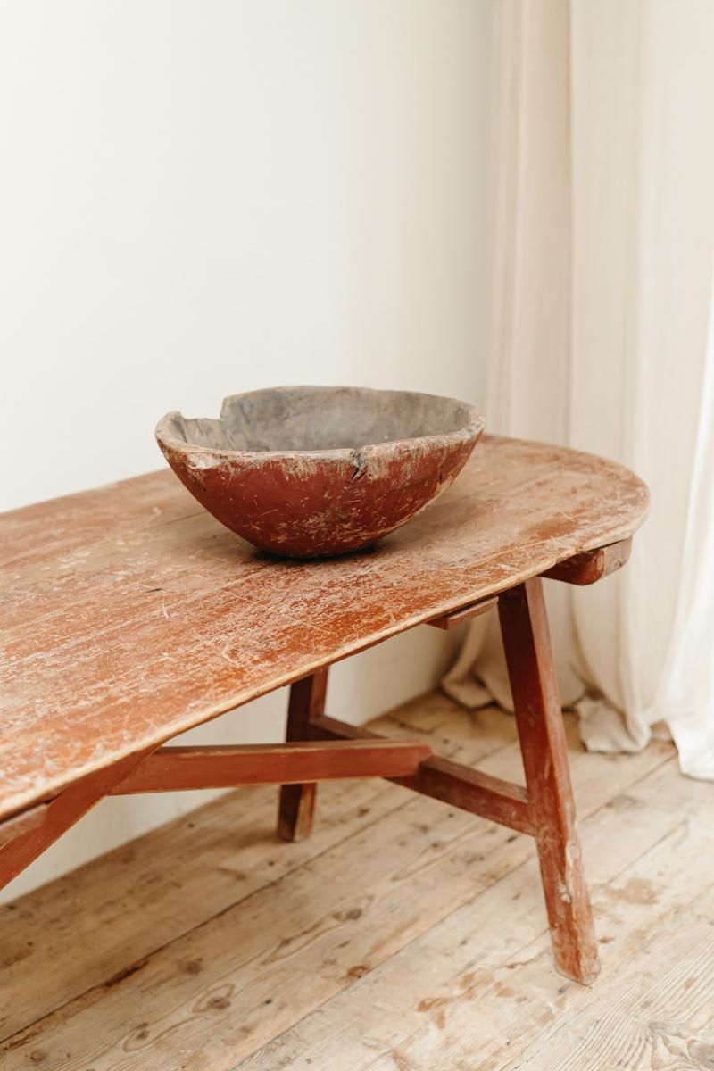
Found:
[[[255,550],[168,469],[0,514],[0,817],[581,550],[648,506],[627,469],[485,436],[375,548]]]

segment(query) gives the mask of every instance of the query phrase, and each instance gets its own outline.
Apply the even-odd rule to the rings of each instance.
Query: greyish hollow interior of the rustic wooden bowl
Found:
[[[213,450],[359,450],[459,432],[474,419],[471,406],[434,394],[288,387],[227,397],[218,420],[177,414],[171,431],[185,442]]]

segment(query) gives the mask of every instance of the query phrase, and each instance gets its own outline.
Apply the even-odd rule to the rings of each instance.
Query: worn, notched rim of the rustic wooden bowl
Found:
[[[374,387],[345,387],[345,386],[322,386],[322,384],[291,384],[289,387],[263,387],[254,391],[242,391],[238,394],[228,394],[223,399],[221,404],[221,412],[218,418],[208,418],[209,420],[222,420],[223,419],[223,408],[226,402],[233,401],[240,397],[249,397],[256,394],[272,394],[275,391],[304,391],[304,390],[316,390],[316,391],[359,391],[364,394],[411,394],[417,395],[420,397],[427,398],[438,398],[440,402],[452,402],[455,406],[461,406],[465,408],[469,414],[469,419],[466,424],[460,427],[455,428],[453,432],[440,432],[435,435],[414,435],[400,439],[386,439],[382,442],[365,442],[360,447],[334,447],[328,450],[222,450],[218,447],[206,447],[198,442],[186,442],[185,439],[180,439],[171,431],[172,423],[177,418],[181,420],[196,420],[196,419],[207,419],[207,418],[196,418],[196,417],[184,417],[179,409],[172,409],[170,412],[165,413],[161,420],[157,422],[154,429],[154,435],[158,446],[167,449],[180,452],[182,454],[196,454],[198,456],[210,456],[215,458],[226,458],[230,461],[231,458],[271,458],[276,459],[280,457],[286,458],[305,458],[315,461],[343,461],[347,458],[354,458],[355,455],[362,455],[364,452],[368,451],[374,453],[382,450],[390,450],[395,446],[404,446],[405,443],[432,443],[438,440],[442,446],[456,446],[459,442],[468,442],[470,440],[475,440],[478,438],[484,429],[485,421],[478,410],[470,402],[462,402],[459,398],[451,397],[446,394],[430,394],[427,391],[407,391],[407,390],[393,390],[390,388],[374,388]]]

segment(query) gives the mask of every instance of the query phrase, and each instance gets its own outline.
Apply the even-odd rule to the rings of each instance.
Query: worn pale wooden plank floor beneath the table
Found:
[[[519,779],[497,710],[378,727]],[[0,908],[0,1068],[714,1069],[714,786],[568,731],[593,989],[553,970],[530,838],[363,781],[284,844],[276,790],[242,789]]]

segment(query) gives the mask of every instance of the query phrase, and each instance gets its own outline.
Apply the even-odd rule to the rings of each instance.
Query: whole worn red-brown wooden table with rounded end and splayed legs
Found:
[[[277,783],[307,835],[316,782],[380,775],[533,835],[558,967],[597,951],[542,576],[624,564],[648,492],[611,462],[484,437],[457,482],[361,554],[277,561],[169,471],[0,516],[0,887],[111,794]],[[324,714],[328,667],[417,624],[498,606],[526,787]],[[285,744],[164,748],[290,684]]]

